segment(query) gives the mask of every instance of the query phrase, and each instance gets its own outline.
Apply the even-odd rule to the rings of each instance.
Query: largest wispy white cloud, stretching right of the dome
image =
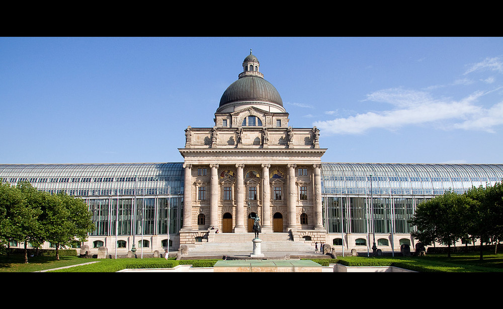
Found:
[[[367,99],[391,104],[395,109],[367,112],[328,121],[316,121],[314,126],[325,134],[359,134],[373,128],[397,129],[407,125],[438,123],[450,128],[491,131],[503,124],[503,104],[484,109],[475,103],[483,96],[475,92],[459,100],[434,99],[427,92],[403,89],[381,90],[369,94]],[[461,121],[461,122],[459,122]]]

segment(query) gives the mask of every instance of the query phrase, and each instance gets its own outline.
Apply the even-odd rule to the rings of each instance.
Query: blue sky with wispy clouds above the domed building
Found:
[[[2,37],[0,164],[183,162],[250,49],[323,162],[503,163],[503,38]]]

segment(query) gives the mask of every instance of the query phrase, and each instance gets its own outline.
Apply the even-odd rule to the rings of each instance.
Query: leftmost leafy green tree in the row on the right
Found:
[[[472,203],[473,200],[465,195],[447,191],[419,204],[408,220],[417,227],[411,235],[425,244],[434,241],[446,244],[447,256],[451,257],[451,246],[468,236],[468,207]]]

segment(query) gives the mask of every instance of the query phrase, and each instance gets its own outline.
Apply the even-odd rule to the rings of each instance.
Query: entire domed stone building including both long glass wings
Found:
[[[250,52],[215,125],[185,129],[183,162],[9,164],[0,179],[82,198],[96,227],[82,245],[122,254],[190,252],[220,233],[249,234],[251,244],[256,216],[261,238],[285,235],[313,249],[323,242],[336,252],[368,251],[375,239],[382,251],[399,251],[416,243],[407,220],[419,203],[503,179],[499,164],[323,163],[319,130],[293,128],[288,117]]]

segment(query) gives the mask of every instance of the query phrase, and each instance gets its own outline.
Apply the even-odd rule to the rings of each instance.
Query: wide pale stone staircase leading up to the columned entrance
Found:
[[[254,233],[219,233],[211,235],[210,242],[197,243],[183,259],[222,258],[223,256],[249,256],[253,253]],[[314,254],[310,242],[292,241],[289,233],[261,233],[261,252],[267,257],[329,258]]]

